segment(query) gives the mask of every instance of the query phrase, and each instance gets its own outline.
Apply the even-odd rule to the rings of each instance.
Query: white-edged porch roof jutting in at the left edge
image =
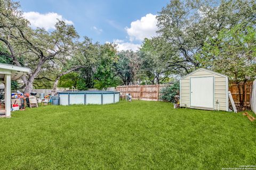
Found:
[[[20,67],[16,65],[0,63],[0,71],[9,71],[11,73],[11,80],[17,80],[30,71],[27,67]],[[9,74],[10,74],[9,73]],[[0,74],[0,79],[4,79],[4,74]]]

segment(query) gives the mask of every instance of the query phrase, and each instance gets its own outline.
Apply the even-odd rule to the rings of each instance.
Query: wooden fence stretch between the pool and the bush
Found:
[[[168,84],[117,86],[116,91],[120,92],[121,97],[124,97],[125,94],[131,94],[133,99],[158,101],[161,95],[161,89],[167,85]]]

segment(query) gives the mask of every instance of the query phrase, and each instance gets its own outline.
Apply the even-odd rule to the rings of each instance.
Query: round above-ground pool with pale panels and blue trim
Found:
[[[116,91],[58,91],[60,105],[104,105],[117,103],[119,92]]]

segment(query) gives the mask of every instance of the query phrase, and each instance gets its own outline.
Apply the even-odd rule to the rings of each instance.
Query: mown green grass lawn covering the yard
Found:
[[[156,101],[27,108],[1,118],[0,129],[0,169],[256,165],[256,123],[241,113]]]

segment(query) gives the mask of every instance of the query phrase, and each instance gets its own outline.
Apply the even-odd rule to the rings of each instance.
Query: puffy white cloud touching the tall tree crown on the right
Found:
[[[131,27],[126,27],[125,30],[129,35],[130,41],[142,41],[144,38],[154,37],[157,35],[156,15],[149,13],[141,17],[140,20],[131,22]]]

